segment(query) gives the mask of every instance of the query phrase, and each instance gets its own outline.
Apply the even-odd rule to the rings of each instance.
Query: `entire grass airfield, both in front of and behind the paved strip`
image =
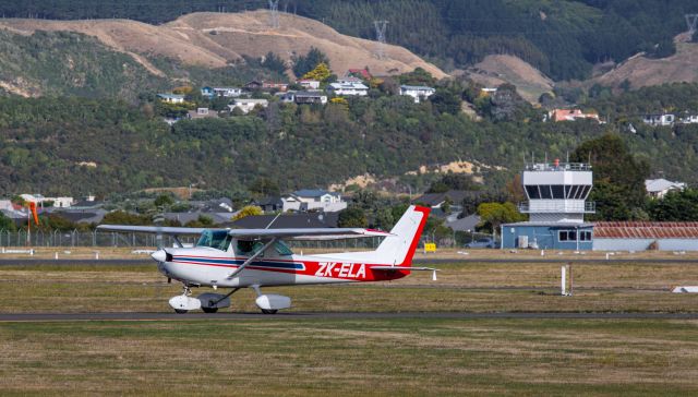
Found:
[[[269,288],[292,311],[696,312],[695,264],[438,265],[393,282]],[[0,267],[0,313],[169,312],[154,265]],[[210,291],[210,289],[201,289]],[[198,293],[195,290],[194,293]],[[256,311],[252,291],[233,311]],[[0,395],[693,395],[698,321],[186,320],[0,323]]]

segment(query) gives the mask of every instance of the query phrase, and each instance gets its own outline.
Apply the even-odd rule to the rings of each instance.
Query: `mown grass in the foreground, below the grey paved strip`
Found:
[[[2,395],[691,395],[695,321],[0,324]]]

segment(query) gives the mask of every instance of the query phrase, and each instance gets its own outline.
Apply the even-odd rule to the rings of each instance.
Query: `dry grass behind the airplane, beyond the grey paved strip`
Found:
[[[698,296],[671,293],[698,281],[691,264],[575,265],[575,296],[559,296],[555,264],[438,265],[437,281],[416,273],[392,282],[266,288],[292,298],[293,311],[694,312]],[[181,293],[155,266],[0,267],[0,312],[169,311]],[[212,291],[194,289],[194,293]],[[237,292],[234,311],[256,311],[254,292]]]

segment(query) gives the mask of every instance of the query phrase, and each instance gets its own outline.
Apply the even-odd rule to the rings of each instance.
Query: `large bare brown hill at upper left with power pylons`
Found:
[[[385,46],[386,59],[374,55],[376,43],[341,35],[320,22],[282,14],[284,29],[268,27],[268,12],[194,13],[164,25],[128,20],[45,21],[0,20],[0,27],[32,34],[35,31],[69,31],[95,36],[104,45],[129,55],[155,75],[165,72],[147,57],[166,57],[183,64],[224,68],[240,62],[242,56],[262,57],[273,51],[284,59],[304,55],[311,47],[329,58],[332,68],[344,73],[349,68],[369,67],[375,74],[399,74],[423,68],[441,79],[446,74],[405,48]]]

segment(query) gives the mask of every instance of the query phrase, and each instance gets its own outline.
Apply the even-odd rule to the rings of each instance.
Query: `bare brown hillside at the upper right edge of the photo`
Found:
[[[687,43],[687,35],[675,38],[676,53],[651,59],[643,53],[626,60],[603,75],[592,79],[591,84],[617,87],[629,82],[631,88],[665,83],[698,82],[698,43]]]

